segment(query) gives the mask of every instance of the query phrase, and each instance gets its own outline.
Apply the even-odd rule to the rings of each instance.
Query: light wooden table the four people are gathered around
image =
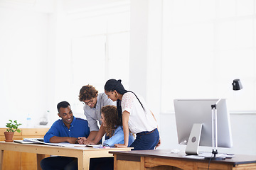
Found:
[[[77,157],[78,169],[89,169],[90,158],[113,157],[110,151],[129,151],[132,148],[92,148],[92,147],[56,147],[51,145],[19,144],[14,142],[0,142],[0,170],[3,164],[4,151],[28,152],[37,154],[37,167],[41,169],[40,162],[46,154],[65,157]]]

